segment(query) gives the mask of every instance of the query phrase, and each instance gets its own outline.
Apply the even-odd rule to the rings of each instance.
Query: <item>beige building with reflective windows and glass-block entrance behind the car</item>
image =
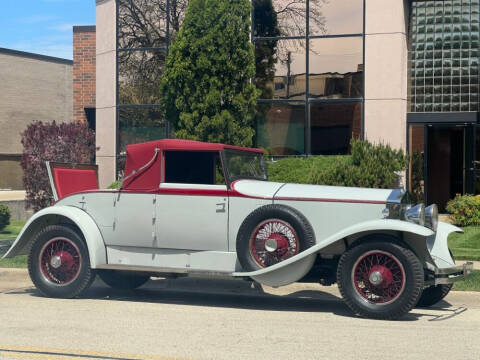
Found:
[[[476,192],[478,2],[253,0],[255,145],[331,155],[352,137],[384,142],[411,155],[408,186],[426,202]],[[127,144],[169,136],[158,83],[187,3],[97,0],[102,185]]]

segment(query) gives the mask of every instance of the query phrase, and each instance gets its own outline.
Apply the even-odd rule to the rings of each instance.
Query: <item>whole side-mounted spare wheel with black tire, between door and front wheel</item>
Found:
[[[273,204],[245,218],[238,231],[236,250],[244,271],[255,271],[313,245],[314,232],[305,216],[289,206]]]

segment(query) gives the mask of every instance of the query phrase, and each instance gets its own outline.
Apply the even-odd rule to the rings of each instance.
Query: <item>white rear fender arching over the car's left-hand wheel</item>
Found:
[[[25,224],[4,258],[27,255],[34,236],[44,226],[62,223],[65,221],[65,218],[78,226],[82,232],[87,243],[91,267],[96,268],[97,265],[106,264],[107,254],[105,243],[103,242],[102,234],[95,221],[93,221],[90,215],[79,208],[58,205],[45,208],[33,215]]]

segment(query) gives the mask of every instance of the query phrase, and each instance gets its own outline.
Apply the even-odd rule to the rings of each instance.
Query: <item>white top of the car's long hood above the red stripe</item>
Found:
[[[232,188],[245,196],[276,200],[340,201],[378,204],[386,203],[393,191],[389,189],[286,184],[256,180],[239,180],[232,184]]]

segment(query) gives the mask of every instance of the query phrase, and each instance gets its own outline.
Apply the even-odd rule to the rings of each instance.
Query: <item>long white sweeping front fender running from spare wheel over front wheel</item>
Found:
[[[283,286],[300,280],[313,266],[316,254],[329,245],[359,233],[396,231],[427,238],[435,233],[417,224],[401,220],[379,219],[350,226],[326,239],[317,239],[317,244],[278,264],[251,272],[236,272],[233,276],[251,277],[269,286]]]

